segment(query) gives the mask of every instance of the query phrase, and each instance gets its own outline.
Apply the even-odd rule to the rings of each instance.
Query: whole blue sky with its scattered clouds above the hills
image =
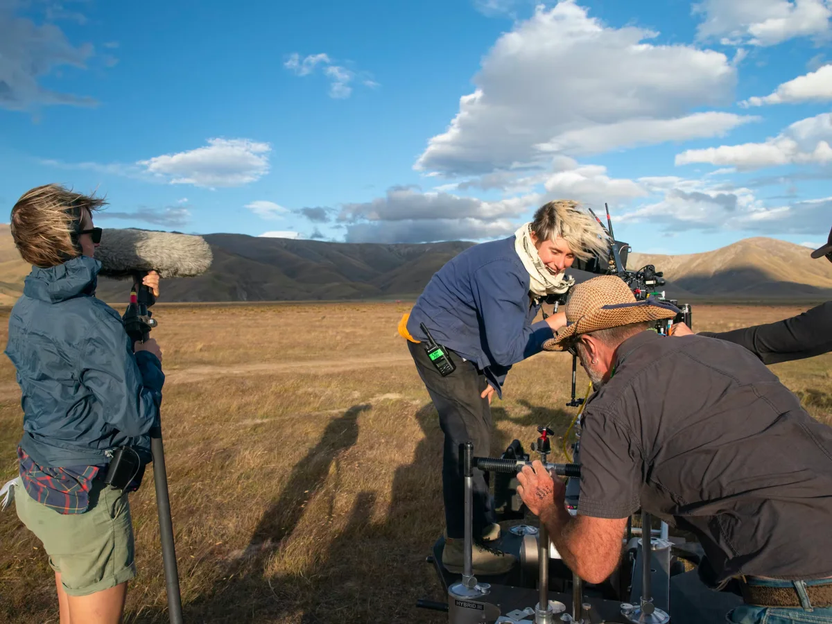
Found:
[[[416,242],[508,235],[572,198],[609,202],[639,251],[820,245],[830,16],[0,0],[0,203],[56,181],[106,194],[105,227]]]

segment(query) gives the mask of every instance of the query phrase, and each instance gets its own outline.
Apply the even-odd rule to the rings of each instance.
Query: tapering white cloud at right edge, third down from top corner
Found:
[[[762,143],[686,150],[676,155],[676,165],[706,162],[735,166],[740,170],[765,166],[803,165],[832,161],[832,113],[795,121],[778,136]]]

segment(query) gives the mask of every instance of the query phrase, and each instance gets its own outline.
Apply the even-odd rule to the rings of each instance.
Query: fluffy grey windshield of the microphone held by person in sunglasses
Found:
[[[102,263],[99,275],[126,280],[155,270],[164,280],[202,275],[214,260],[201,236],[147,230],[102,230],[96,250]]]

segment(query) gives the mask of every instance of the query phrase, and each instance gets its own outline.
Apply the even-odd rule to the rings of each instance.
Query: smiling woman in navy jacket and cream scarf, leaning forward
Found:
[[[463,566],[463,477],[458,446],[471,441],[475,453],[491,447],[490,404],[502,398],[503,381],[523,359],[537,354],[554,331],[566,324],[561,311],[534,323],[542,300],[561,295],[574,284],[564,271],[572,262],[602,256],[607,237],[594,216],[575,201],[552,201],[537,210],[530,223],[503,240],[474,245],[433,275],[418,298],[401,334],[439,414],[445,434],[443,498],[446,543],[443,565],[452,572]],[[449,352],[456,370],[443,377],[423,349],[424,324]],[[488,483],[474,474],[473,527],[477,542],[499,537],[493,522]],[[514,557],[475,545],[474,572],[500,574]]]

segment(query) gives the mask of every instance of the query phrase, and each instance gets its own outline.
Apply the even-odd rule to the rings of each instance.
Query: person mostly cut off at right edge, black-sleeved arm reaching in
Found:
[[[821,245],[811,255],[815,260],[825,257],[832,262],[832,230],[826,245]],[[687,336],[693,332],[686,324],[679,323],[673,325],[671,334]],[[701,332],[699,335],[741,344],[764,364],[811,358],[832,351],[832,301],[775,323],[732,329],[719,334]]]

